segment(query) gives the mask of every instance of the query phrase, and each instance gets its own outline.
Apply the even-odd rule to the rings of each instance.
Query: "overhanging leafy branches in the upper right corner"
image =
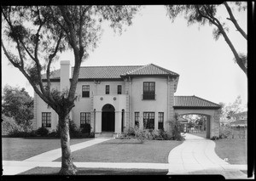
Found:
[[[184,14],[184,18],[188,20],[188,25],[199,23],[199,25],[205,25],[207,22],[209,25],[214,25],[212,34],[215,40],[218,40],[218,37],[221,35],[224,37],[225,42],[229,45],[232,53],[235,56],[235,61],[241,70],[247,75],[247,54],[239,53],[234,47],[233,43],[228,37],[227,32],[229,27],[227,22],[221,22],[221,19],[218,17],[218,7],[224,6],[229,17],[226,20],[230,20],[232,24],[236,27],[242,37],[247,41],[247,33],[241,29],[241,26],[238,24],[236,18],[234,17],[233,11],[234,8],[230,5],[233,4],[236,6],[236,9],[240,12],[241,10],[247,9],[246,2],[224,2],[222,4],[203,4],[203,5],[166,5],[167,13],[171,18],[172,22],[175,20],[178,14]]]

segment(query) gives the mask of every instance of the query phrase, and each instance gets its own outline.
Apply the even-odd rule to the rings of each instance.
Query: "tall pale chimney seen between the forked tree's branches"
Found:
[[[69,88],[69,78],[70,78],[70,61],[69,60],[61,60],[61,87],[60,91],[63,89],[66,90]]]

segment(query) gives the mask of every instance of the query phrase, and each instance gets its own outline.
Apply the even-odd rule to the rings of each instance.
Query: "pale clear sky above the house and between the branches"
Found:
[[[219,17],[228,14],[219,9]],[[247,32],[247,12],[234,12],[241,28]],[[234,25],[228,24],[228,36],[239,52],[247,54],[247,41]],[[161,5],[145,6],[133,19],[131,26],[119,36],[104,25],[98,47],[90,53],[82,66],[96,65],[148,65],[154,64],[179,74],[175,95],[195,95],[214,103],[233,103],[241,95],[242,105],[247,104],[247,76],[234,62],[223,37],[215,41],[212,26],[187,25],[183,16],[172,20]],[[73,63],[71,51],[60,55],[60,60]],[[59,69],[59,62],[55,69]],[[33,96],[33,89],[26,78],[2,54],[2,88],[19,86]]]

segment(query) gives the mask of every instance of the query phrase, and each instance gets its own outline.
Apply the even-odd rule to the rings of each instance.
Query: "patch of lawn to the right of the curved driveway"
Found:
[[[218,139],[214,140],[216,154],[230,164],[247,164],[247,139]]]

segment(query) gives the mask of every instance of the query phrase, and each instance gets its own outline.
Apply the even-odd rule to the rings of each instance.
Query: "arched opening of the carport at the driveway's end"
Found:
[[[184,132],[192,133],[205,139],[210,139],[211,132],[211,116],[198,113],[185,113],[178,115],[186,120],[183,124]]]

